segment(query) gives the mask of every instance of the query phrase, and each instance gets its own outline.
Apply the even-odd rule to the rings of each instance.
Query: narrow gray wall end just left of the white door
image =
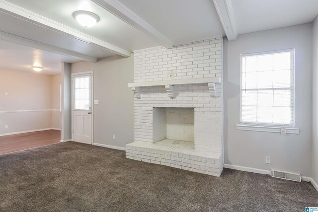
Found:
[[[62,63],[62,135],[61,140],[72,139],[72,76],[71,64]]]

